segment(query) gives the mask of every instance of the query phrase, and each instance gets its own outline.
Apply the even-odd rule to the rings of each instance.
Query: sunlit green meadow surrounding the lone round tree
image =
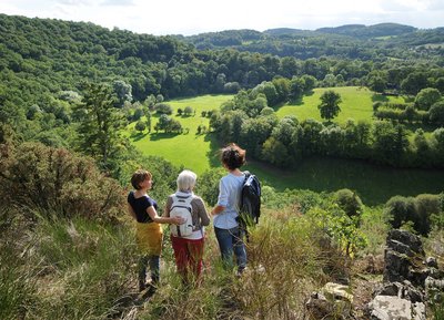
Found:
[[[373,102],[375,101],[390,101],[394,103],[403,103],[403,97],[382,96],[374,94],[366,87],[359,86],[340,86],[340,87],[319,87],[314,89],[311,95],[305,95],[301,101],[292,104],[285,104],[276,110],[279,117],[285,115],[295,115],[299,121],[306,118],[314,118],[323,121],[317,105],[321,103],[321,95],[326,90],[333,90],[339,93],[342,99],[340,103],[341,112],[333,121],[337,123],[345,123],[349,118],[367,120],[373,116]]]

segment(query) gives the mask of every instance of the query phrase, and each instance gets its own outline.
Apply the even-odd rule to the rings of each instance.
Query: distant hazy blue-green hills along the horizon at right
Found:
[[[250,37],[251,34],[254,37]],[[405,50],[410,50],[411,55],[415,54],[418,42],[444,43],[444,33],[441,28],[420,30],[397,23],[380,23],[320,28],[314,31],[278,28],[263,32],[250,30],[245,33],[243,30],[231,30],[186,37],[185,40],[198,49],[234,48],[241,51],[300,59],[341,56],[369,60],[376,52],[394,58],[404,58]],[[441,51],[422,50],[421,55],[424,54],[440,56]]]

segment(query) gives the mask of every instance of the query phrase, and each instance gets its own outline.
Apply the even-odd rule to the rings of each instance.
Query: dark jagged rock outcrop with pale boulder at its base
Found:
[[[384,260],[383,283],[373,292],[367,306],[369,318],[426,319],[426,303],[433,300],[431,295],[444,285],[436,259],[425,257],[420,237],[394,229],[387,236]]]

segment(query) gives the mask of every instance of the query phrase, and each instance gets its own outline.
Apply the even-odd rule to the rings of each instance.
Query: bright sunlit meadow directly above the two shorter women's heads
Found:
[[[215,165],[215,151],[219,146],[213,135],[196,134],[199,125],[208,127],[210,122],[208,117],[202,117],[201,113],[202,111],[219,110],[221,104],[232,99],[232,96],[202,95],[165,102],[174,110],[172,117],[179,120],[184,128],[189,128],[188,134],[165,134],[163,132],[155,133],[154,131],[151,134],[148,134],[147,131],[140,134],[133,132],[134,123],[132,123],[127,131],[127,135],[145,155],[159,155],[175,166],[184,166],[196,173],[203,173]],[[178,116],[178,109],[181,107],[183,110],[188,105],[195,110],[195,115]],[[153,116],[152,127],[154,127],[157,121],[158,117]]]

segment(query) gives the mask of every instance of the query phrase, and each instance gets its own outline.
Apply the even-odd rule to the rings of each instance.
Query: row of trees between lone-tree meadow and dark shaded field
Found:
[[[276,97],[280,96],[278,87],[286,83],[290,89],[297,81],[274,80],[241,91],[211,116],[211,128],[221,142],[236,141],[255,158],[280,167],[297,165],[313,155],[359,158],[395,167],[443,167],[444,128],[441,125],[430,136],[417,128],[412,140],[401,122],[350,118],[339,125],[331,120],[340,111],[341,96],[332,90],[324,92],[319,105],[321,116],[327,122],[299,121],[295,116],[278,118],[268,104],[269,96],[271,101],[289,99],[291,90],[285,97]],[[442,101],[437,103],[441,105]]]

